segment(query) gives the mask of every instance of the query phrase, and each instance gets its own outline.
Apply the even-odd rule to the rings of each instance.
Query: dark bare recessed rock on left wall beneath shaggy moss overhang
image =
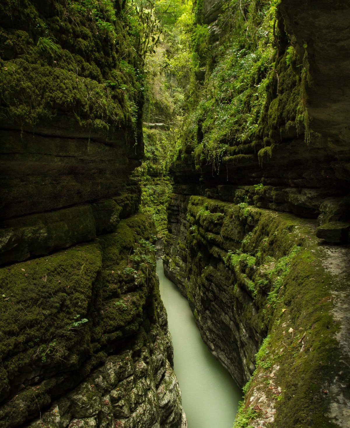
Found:
[[[125,140],[21,131],[1,131],[1,140],[2,219],[117,196],[142,156]]]

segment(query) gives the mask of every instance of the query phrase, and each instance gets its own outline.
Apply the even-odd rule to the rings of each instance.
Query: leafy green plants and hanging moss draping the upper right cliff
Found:
[[[224,4],[219,42],[208,51],[201,27],[202,2],[196,2],[190,25],[187,61],[187,108],[181,149],[193,148],[197,166],[234,162],[258,152],[259,162],[272,156],[283,129],[307,128],[305,67],[295,49],[282,51],[283,25],[279,0],[237,1]],[[194,82],[205,72],[204,84]],[[306,140],[308,140],[306,130]],[[180,160],[180,156],[177,158]]]

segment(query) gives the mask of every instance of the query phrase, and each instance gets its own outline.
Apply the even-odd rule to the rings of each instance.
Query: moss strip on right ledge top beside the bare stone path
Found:
[[[299,232],[292,235],[294,240],[299,239]],[[269,336],[256,355],[256,370],[244,390],[248,400],[256,394],[255,388],[260,391],[261,379],[268,376],[269,368],[278,364],[273,383],[281,388],[282,395],[270,395],[276,407],[275,426],[335,426],[326,416],[329,401],[322,392],[333,379],[334,362],[341,358],[335,339],[337,324],[331,315],[332,279],[322,266],[322,248],[312,235],[308,236],[306,245],[292,247],[289,256],[278,260],[265,256],[265,263],[270,264],[267,271],[278,273],[283,285],[274,303],[276,309],[270,312],[269,305],[263,306],[264,316],[271,317]]]

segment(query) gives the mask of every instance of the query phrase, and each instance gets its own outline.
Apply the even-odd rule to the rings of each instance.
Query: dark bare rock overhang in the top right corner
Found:
[[[302,56],[307,52],[312,77],[308,90],[311,127],[329,137],[329,147],[341,160],[350,141],[349,3],[284,0],[281,10],[297,49]]]

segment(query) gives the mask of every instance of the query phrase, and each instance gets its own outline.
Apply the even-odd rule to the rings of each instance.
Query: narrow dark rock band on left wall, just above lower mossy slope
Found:
[[[138,186],[123,186],[122,190],[122,194],[113,199],[2,221],[0,265],[48,254],[113,232],[120,219],[134,214],[139,205]]]

